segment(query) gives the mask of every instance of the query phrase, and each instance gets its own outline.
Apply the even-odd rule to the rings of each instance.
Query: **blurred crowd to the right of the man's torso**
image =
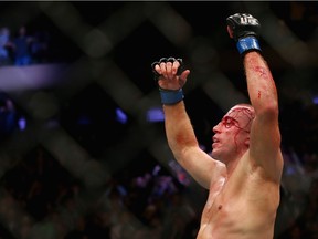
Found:
[[[299,101],[280,113],[284,174],[277,229],[279,239],[318,238],[318,105]]]

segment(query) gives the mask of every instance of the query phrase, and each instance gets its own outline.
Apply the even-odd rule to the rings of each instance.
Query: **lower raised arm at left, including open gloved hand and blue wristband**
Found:
[[[181,66],[182,60],[173,58],[152,63],[163,105],[166,135],[177,162],[209,189],[211,180],[225,176],[225,166],[199,147],[183,102],[182,86],[190,71],[181,71]]]

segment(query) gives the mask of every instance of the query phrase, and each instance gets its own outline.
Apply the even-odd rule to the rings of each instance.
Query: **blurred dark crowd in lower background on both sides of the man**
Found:
[[[290,118],[287,112],[283,111],[282,121]],[[282,126],[288,141],[283,144],[285,169],[275,239],[317,239],[318,157],[312,144],[317,106],[294,104],[293,114],[298,116]],[[293,124],[301,135],[294,131],[292,136],[287,128]],[[208,193],[190,187],[187,175],[178,177],[159,164],[139,175],[128,168],[96,190],[70,175],[41,146],[17,162],[1,178],[0,219],[9,225],[0,228],[3,238],[195,238]]]

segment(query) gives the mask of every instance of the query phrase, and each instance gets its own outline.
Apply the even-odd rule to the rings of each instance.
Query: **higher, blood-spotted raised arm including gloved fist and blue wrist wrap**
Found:
[[[250,101],[255,110],[251,129],[250,156],[265,170],[265,176],[280,180],[283,157],[278,127],[278,100],[272,72],[258,44],[261,25],[251,14],[227,18],[227,31],[242,54]]]

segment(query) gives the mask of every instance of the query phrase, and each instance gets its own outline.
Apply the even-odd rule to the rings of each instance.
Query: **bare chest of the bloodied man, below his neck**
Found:
[[[259,191],[259,187],[263,187],[264,193]],[[277,205],[272,199],[274,191],[275,188],[267,187],[266,184],[262,186],[246,177],[212,184],[201,217],[200,235],[222,235],[223,238],[227,235],[227,238],[232,238],[230,233],[237,236],[242,231],[248,231],[250,236],[253,235],[252,231],[271,233]]]

